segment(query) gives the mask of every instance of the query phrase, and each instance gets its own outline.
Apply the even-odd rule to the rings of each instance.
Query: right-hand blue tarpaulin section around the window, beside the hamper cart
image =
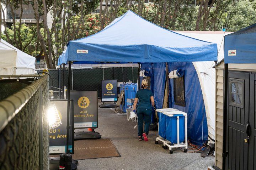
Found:
[[[174,101],[174,79],[169,79],[170,96],[169,107],[187,113],[188,139],[196,144],[203,145],[208,138],[208,127],[203,94],[196,69],[192,62],[168,63],[169,72],[174,69],[184,70],[184,89],[186,106],[178,106]]]

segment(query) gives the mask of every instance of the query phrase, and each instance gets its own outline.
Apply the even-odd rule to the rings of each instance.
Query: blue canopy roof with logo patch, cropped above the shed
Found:
[[[225,63],[256,63],[256,23],[224,38]]]

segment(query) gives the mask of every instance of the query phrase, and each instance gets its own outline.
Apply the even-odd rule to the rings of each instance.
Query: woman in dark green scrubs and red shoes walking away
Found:
[[[153,97],[153,93],[147,89],[148,80],[142,80],[142,86],[135,96],[135,101],[133,104],[133,112],[136,112],[136,105],[139,100],[139,104],[137,106],[137,115],[138,115],[138,136],[139,141],[148,141],[148,133],[149,133],[149,125],[151,121],[152,109],[151,106],[154,107],[155,101]],[[144,131],[143,131],[143,120],[145,121]]]

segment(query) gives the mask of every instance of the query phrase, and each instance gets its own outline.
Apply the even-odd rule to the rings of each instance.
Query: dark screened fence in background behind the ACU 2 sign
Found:
[[[68,88],[68,69],[63,70],[50,69],[50,77],[53,81],[49,80],[50,90],[54,91],[54,98],[59,98],[59,89],[62,85]],[[60,79],[59,79],[60,76]],[[98,97],[101,97],[101,80],[117,79],[117,82],[131,81],[137,83],[138,68],[137,67],[106,67],[106,68],[71,68],[71,90],[94,90],[98,91]],[[117,89],[119,94],[119,87]]]

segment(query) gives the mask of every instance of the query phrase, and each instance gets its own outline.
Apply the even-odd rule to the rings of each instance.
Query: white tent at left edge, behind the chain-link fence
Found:
[[[34,74],[36,58],[17,49],[5,40],[0,42],[0,75]]]

